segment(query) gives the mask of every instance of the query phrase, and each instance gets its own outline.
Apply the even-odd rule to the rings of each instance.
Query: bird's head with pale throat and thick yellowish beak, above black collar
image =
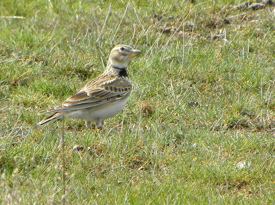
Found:
[[[116,68],[127,68],[131,60],[139,54],[141,54],[141,51],[130,46],[117,45],[110,53],[108,65]]]

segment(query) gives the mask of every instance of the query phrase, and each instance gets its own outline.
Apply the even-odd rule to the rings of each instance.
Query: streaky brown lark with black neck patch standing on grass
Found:
[[[109,55],[105,71],[61,105],[39,112],[39,115],[51,115],[38,125],[61,118],[75,118],[85,120],[88,129],[91,129],[91,123],[94,122],[96,128],[102,130],[102,121],[118,114],[126,105],[132,90],[127,67],[140,54],[141,51],[128,45],[115,46]]]

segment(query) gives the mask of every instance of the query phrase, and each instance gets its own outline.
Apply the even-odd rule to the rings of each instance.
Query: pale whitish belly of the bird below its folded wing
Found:
[[[84,119],[90,122],[105,120],[118,114],[126,105],[129,95],[119,100],[111,101],[93,108],[73,111],[66,115],[68,118]]]

